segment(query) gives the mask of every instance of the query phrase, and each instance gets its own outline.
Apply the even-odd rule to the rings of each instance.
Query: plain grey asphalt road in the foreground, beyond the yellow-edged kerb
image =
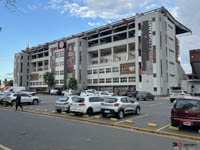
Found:
[[[173,150],[195,141],[0,109],[0,144],[13,150]]]

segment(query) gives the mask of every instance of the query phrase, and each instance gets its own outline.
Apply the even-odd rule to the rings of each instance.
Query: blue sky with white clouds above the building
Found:
[[[199,0],[0,0],[0,79],[13,78],[14,54],[28,44],[37,46],[164,6],[192,30],[178,36],[180,60],[191,72],[189,50],[200,48]]]

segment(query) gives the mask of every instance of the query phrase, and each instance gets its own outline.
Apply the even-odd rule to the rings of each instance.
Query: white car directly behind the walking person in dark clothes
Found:
[[[23,94],[23,93],[12,93],[9,96],[7,96],[6,98],[3,99],[3,103],[6,105],[16,105],[16,98],[17,95],[20,94],[21,95],[21,103],[30,103],[33,105],[37,105],[40,103],[40,99],[37,96],[31,96],[28,94]]]

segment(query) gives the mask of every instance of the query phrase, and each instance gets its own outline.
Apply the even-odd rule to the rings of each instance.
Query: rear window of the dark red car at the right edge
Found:
[[[200,110],[200,101],[196,100],[176,100],[175,109]]]

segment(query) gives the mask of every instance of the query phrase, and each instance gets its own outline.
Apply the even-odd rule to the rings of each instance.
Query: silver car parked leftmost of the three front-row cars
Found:
[[[63,96],[60,97],[55,104],[55,109],[57,112],[67,111],[69,112],[70,106],[72,104],[72,97],[75,96]]]

